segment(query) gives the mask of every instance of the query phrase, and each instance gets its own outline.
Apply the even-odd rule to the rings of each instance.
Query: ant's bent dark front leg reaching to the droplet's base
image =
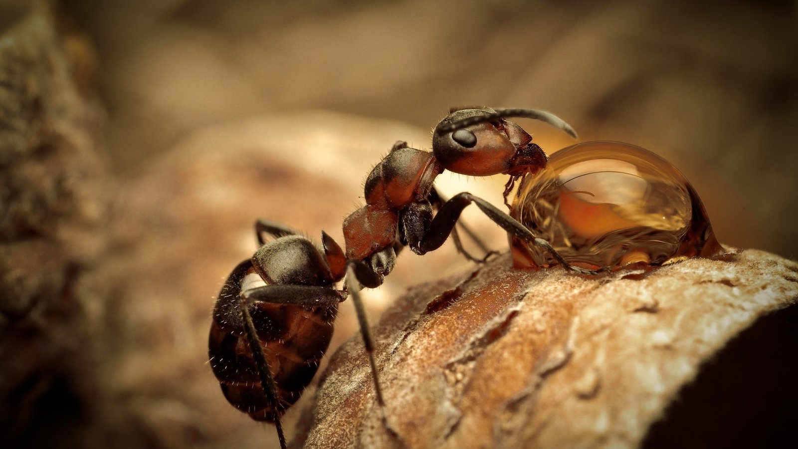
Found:
[[[446,201],[446,203],[441,206],[440,211],[436,214],[435,218],[433,218],[432,223],[430,223],[429,227],[425,229],[424,238],[417,242],[419,250],[423,253],[440,248],[440,245],[444,244],[444,241],[448,237],[449,233],[452,232],[452,228],[454,228],[458,218],[460,217],[460,213],[462,213],[463,209],[465,209],[465,207],[471,203],[476,204],[476,207],[480,208],[480,210],[487,215],[488,218],[490,218],[494,223],[499,224],[502,228],[504,228],[505,231],[509,232],[513,236],[516,236],[529,244],[534,244],[535,246],[539,246],[540,248],[547,250],[547,252],[549,252],[551,256],[563,266],[563,268],[569,271],[577,272],[579,274],[595,275],[599,272],[609,270],[607,267],[599,268],[599,270],[587,270],[569,264],[565,259],[563,259],[563,256],[561,256],[559,252],[557,252],[555,248],[551,246],[549,242],[536,237],[535,234],[533,234],[523,224],[520,224],[515,218],[510,217],[507,213],[500,211],[496,208],[496,206],[488,203],[488,201],[484,201],[480,197],[475,197],[468,192],[456,194],[451,200]],[[413,232],[407,232],[407,234],[412,235]]]

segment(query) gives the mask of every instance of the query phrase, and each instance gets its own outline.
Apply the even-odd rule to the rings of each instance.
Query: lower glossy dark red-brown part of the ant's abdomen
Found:
[[[337,305],[305,307],[249,300],[255,324],[278,397],[277,410],[263,395],[254,353],[244,331],[240,296],[267,285],[252,260],[245,260],[227,278],[213,311],[208,340],[211,368],[224,397],[252,419],[275,421],[299,399],[318,370],[330,345]]]

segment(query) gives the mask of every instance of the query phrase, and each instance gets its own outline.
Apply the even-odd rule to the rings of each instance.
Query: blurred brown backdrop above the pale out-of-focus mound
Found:
[[[97,47],[120,173],[255,114],[325,109],[430,129],[452,105],[525,106],[563,117],[583,141],[662,154],[693,181],[721,241],[796,256],[795,2],[64,7]],[[543,136],[549,152],[570,143]]]

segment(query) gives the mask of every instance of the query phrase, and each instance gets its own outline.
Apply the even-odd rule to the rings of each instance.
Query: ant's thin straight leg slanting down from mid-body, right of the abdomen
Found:
[[[377,406],[380,407],[380,418],[385,430],[388,431],[393,438],[398,440],[400,439],[399,435],[388,425],[388,417],[385,415],[385,399],[382,397],[382,388],[380,387],[380,380],[377,374],[377,362],[374,360],[374,340],[371,336],[369,320],[365,316],[365,308],[363,307],[363,301],[360,297],[361,284],[365,287],[377,287],[377,285],[381,284],[381,281],[381,276],[371,271],[371,268],[362,262],[350,260],[349,264],[346,264],[345,288],[352,297],[352,304],[354,304],[354,310],[358,315],[358,324],[360,324],[363,346],[365,347],[365,352],[369,355],[371,377],[374,381],[374,393],[377,396]]]

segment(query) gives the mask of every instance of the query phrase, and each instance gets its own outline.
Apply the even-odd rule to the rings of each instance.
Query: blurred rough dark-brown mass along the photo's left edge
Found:
[[[105,249],[108,179],[90,58],[43,6],[0,35],[0,445],[35,445],[41,427],[70,439],[91,413],[102,304],[83,282]]]

